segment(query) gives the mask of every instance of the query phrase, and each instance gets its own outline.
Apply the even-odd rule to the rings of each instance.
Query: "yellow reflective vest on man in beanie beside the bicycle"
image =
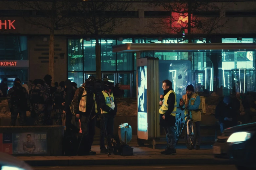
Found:
[[[195,99],[196,99],[197,96],[198,96],[198,93],[197,92],[193,92],[191,98],[188,99],[187,94],[184,94],[182,96],[182,100],[183,100],[184,104],[187,103],[188,105],[192,106],[192,105],[194,105],[194,102],[195,102]],[[200,100],[200,98],[199,98],[199,100]],[[191,113],[192,113],[192,120],[194,122],[201,121],[201,112],[200,111],[191,110]],[[187,115],[187,114],[188,114],[188,110],[186,109],[185,110],[185,115]]]

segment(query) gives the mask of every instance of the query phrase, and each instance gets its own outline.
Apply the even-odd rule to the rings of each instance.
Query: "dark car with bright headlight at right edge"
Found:
[[[256,123],[225,129],[215,140],[213,154],[229,159],[238,170],[256,168]]]

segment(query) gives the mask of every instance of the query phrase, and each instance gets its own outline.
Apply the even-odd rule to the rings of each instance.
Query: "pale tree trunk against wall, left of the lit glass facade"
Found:
[[[52,77],[52,86],[54,84],[54,30],[50,30],[49,41],[49,75]]]

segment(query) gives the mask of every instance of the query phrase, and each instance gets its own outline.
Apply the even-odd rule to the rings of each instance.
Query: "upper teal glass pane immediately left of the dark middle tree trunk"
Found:
[[[96,71],[95,39],[83,40],[84,71]]]

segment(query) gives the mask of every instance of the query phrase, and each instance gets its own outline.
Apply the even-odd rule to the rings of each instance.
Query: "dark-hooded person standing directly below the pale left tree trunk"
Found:
[[[53,103],[52,103],[51,95],[54,92],[54,87],[51,86],[51,81],[52,81],[51,75],[46,74],[45,77],[44,77],[44,81],[45,81],[44,87],[48,91],[49,97],[50,97],[48,102],[46,103],[47,111],[46,111],[46,119],[45,119],[45,121],[46,121],[46,125],[52,125],[51,112],[52,112],[52,105],[53,105]]]

